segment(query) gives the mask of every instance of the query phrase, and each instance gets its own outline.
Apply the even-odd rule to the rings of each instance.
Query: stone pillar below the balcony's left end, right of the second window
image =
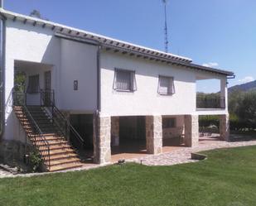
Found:
[[[198,115],[185,115],[185,146],[197,146],[199,141]]]

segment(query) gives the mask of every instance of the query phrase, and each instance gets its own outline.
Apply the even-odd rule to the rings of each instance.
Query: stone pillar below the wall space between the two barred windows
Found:
[[[162,116],[146,117],[147,153],[162,153]]]

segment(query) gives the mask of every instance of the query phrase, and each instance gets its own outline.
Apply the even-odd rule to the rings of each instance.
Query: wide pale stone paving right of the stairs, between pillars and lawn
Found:
[[[191,152],[210,151],[220,148],[238,147],[238,146],[254,146],[256,141],[219,141],[215,138],[204,138],[200,140],[199,146],[196,147],[181,147],[175,151],[162,153],[160,155],[144,156],[142,158],[130,159],[141,163],[142,165],[177,165],[189,162],[196,162],[198,160],[191,160]]]

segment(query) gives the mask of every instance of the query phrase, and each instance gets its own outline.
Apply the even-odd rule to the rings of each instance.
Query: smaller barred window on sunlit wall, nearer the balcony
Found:
[[[159,76],[158,93],[162,95],[171,95],[175,93],[173,77]]]

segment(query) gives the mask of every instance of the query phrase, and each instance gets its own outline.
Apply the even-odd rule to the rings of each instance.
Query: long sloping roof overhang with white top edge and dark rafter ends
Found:
[[[121,52],[123,55],[135,55],[144,59],[166,62],[167,64],[179,65],[190,69],[198,69],[225,76],[234,76],[234,73],[228,70],[215,69],[202,65],[192,64],[191,59],[180,55],[172,55],[170,53],[162,52],[160,50],[153,50],[144,46],[131,44],[126,41],[119,41],[113,38],[109,38],[107,36],[101,36],[89,31],[84,31],[70,26],[57,24],[55,22],[49,22],[42,19],[18,14],[15,12],[9,12],[2,8],[0,8],[0,14],[2,17],[11,19],[13,22],[20,21],[24,24],[31,24],[32,26],[41,26],[45,29],[51,29],[55,32],[55,36],[60,38],[65,38],[72,41],[80,41],[95,46],[101,46],[105,50]]]

